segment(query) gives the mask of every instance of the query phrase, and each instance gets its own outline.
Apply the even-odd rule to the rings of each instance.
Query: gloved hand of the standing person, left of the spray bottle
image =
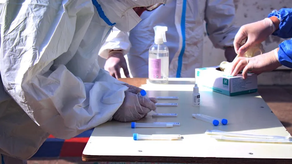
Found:
[[[116,79],[121,78],[120,70],[124,70],[125,76],[130,78],[127,62],[122,51],[110,51],[104,69]]]

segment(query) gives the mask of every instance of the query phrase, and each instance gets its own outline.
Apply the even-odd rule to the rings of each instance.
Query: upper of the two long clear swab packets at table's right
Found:
[[[285,137],[284,136],[276,136],[276,135],[251,135],[251,134],[231,133],[231,132],[219,131],[219,130],[207,130],[205,132],[205,134],[261,138],[261,139],[270,139],[270,140],[287,140],[290,138],[290,135],[287,135]]]

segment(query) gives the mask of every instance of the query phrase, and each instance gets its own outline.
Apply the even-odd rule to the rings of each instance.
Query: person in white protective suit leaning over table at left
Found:
[[[0,161],[25,163],[49,134],[69,139],[110,120],[137,121],[154,98],[111,77],[98,51],[166,0],[0,2]],[[138,14],[139,13],[139,14]]]

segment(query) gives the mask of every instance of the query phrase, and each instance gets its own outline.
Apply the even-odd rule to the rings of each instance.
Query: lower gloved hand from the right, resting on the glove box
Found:
[[[247,73],[260,74],[262,72],[272,71],[281,64],[278,59],[278,48],[262,55],[257,55],[252,58],[238,57],[232,62],[231,75],[237,75],[242,69],[243,78],[247,78]]]

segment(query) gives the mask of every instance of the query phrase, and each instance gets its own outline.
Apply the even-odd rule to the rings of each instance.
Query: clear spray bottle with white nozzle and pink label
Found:
[[[154,44],[149,48],[148,78],[155,84],[168,83],[169,51],[166,42],[166,26],[155,26]]]

